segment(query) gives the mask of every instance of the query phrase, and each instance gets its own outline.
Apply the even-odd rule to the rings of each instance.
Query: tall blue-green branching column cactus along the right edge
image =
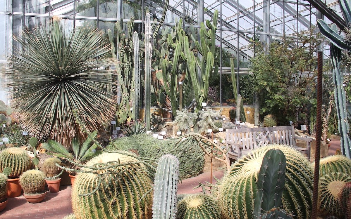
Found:
[[[339,0],[339,5],[346,23],[350,23],[351,10],[349,1]],[[349,53],[351,50],[351,45],[342,35],[337,32],[337,27],[335,24],[329,27],[325,21],[318,19],[317,26],[320,32],[331,42],[330,55],[334,69],[334,95],[339,119],[338,128],[341,136],[341,149],[346,157],[351,158],[351,140],[348,135],[349,123],[347,122],[346,96],[345,89],[343,87],[343,73],[340,70],[341,50],[346,50]]]

